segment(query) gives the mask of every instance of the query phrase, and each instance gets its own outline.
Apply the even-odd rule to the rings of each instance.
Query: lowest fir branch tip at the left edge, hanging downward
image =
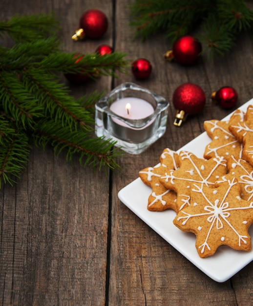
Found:
[[[27,134],[14,127],[3,116],[0,116],[0,188],[4,183],[13,185],[14,177],[20,175],[28,161],[30,153],[29,138]]]

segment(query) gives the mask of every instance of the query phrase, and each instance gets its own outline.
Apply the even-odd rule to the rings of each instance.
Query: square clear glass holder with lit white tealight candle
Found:
[[[168,107],[156,93],[123,83],[96,103],[96,134],[127,153],[142,153],[165,133]]]

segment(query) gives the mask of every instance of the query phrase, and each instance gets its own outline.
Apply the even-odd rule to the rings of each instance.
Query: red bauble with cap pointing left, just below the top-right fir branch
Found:
[[[180,37],[173,44],[172,50],[164,54],[168,61],[175,60],[182,65],[195,64],[202,51],[202,46],[194,37],[187,35]]]

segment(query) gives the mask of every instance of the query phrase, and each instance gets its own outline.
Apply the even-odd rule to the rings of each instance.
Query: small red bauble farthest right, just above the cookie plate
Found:
[[[223,109],[230,109],[236,104],[238,100],[238,94],[233,87],[224,86],[221,87],[218,91],[214,91],[211,94],[211,99]]]

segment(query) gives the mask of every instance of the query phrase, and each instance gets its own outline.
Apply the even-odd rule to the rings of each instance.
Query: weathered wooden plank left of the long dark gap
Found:
[[[4,20],[53,10],[69,52],[94,52],[99,44],[112,44],[111,1],[4,2]],[[81,14],[94,7],[108,17],[105,37],[74,43],[71,36]],[[110,87],[111,78],[71,86],[75,96]],[[54,157],[51,148],[32,150],[17,186],[0,191],[2,305],[105,305],[108,182],[104,171],[83,169],[78,158],[71,166],[64,154]]]

